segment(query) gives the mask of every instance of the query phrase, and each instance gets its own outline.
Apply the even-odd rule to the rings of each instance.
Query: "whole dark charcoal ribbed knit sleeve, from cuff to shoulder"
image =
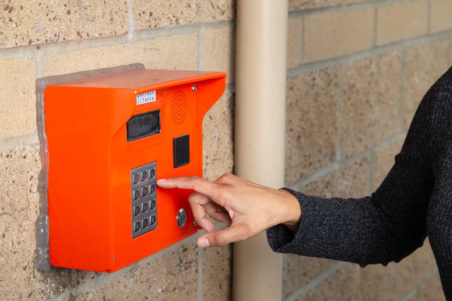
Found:
[[[282,224],[269,228],[270,247],[275,252],[365,266],[398,262],[422,246],[434,182],[428,95],[416,111],[394,166],[371,196],[327,199],[284,188],[300,202],[300,227],[296,233]]]

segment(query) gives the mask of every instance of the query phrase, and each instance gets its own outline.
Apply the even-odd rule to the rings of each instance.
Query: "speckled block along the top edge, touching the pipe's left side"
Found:
[[[235,0],[133,0],[135,29],[235,18]]]

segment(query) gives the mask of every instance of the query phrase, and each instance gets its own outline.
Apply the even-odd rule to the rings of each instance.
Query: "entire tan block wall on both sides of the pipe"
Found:
[[[286,183],[371,193],[428,87],[452,64],[448,0],[289,0]],[[204,120],[204,175],[233,170],[235,0],[0,1],[0,300],[229,300],[231,246],[198,235],[113,274],[33,267],[41,163],[34,81],[141,62],[224,70]],[[217,224],[217,227],[221,227]],[[426,245],[365,269],[284,255],[286,300],[442,300]]]

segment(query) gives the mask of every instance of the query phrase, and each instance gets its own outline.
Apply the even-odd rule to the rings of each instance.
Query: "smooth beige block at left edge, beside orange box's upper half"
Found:
[[[0,139],[36,129],[34,60],[0,60]]]

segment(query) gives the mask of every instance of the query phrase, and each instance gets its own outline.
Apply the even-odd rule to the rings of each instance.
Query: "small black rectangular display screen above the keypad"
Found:
[[[132,116],[127,121],[127,142],[160,133],[160,110]]]

